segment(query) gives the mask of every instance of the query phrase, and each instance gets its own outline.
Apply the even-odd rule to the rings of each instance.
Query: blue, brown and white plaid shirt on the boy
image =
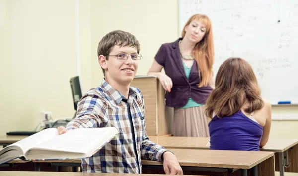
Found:
[[[80,99],[76,118],[66,126],[67,130],[100,127],[116,127],[120,134],[82,159],[83,172],[141,173],[141,158],[161,160],[167,151],[147,137],[144,99],[138,88],[130,87],[127,99],[103,79],[101,86]]]

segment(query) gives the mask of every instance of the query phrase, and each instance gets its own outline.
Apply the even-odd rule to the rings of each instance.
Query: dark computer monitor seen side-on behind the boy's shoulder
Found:
[[[78,76],[72,77],[70,79],[70,84],[71,84],[72,95],[73,95],[74,109],[76,110],[77,103],[82,97],[82,91],[80,88]]]

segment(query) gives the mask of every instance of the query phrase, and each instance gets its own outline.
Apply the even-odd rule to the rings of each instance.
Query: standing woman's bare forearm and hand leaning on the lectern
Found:
[[[152,66],[149,69],[147,75],[154,75],[158,78],[160,81],[162,87],[168,91],[171,92],[171,88],[173,87],[173,82],[170,77],[168,77],[166,74],[162,73],[163,66],[158,64],[155,59],[153,60]]]

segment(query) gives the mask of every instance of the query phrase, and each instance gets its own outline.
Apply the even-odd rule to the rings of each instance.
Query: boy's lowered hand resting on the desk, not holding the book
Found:
[[[170,151],[163,153],[163,170],[165,174],[183,175],[182,168],[176,156]]]

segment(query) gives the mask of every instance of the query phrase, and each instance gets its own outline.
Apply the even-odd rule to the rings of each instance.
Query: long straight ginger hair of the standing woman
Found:
[[[185,27],[189,25],[193,20],[202,22],[206,27],[206,33],[202,40],[198,42],[193,51],[192,55],[198,64],[199,78],[202,75],[202,80],[199,87],[207,86],[210,77],[213,75],[212,66],[214,63],[214,45],[213,45],[213,32],[211,21],[208,16],[203,14],[195,14],[191,16],[182,31],[182,38],[185,36]],[[201,72],[200,72],[201,71]]]

